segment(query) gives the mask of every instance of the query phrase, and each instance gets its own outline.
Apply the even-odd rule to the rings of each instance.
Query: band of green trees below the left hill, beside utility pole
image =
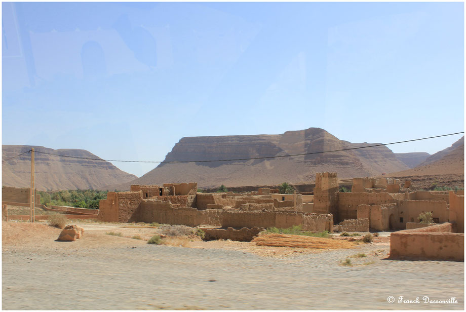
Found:
[[[99,209],[99,201],[107,198],[106,190],[78,189],[60,191],[37,191],[41,204],[46,206],[71,206]]]

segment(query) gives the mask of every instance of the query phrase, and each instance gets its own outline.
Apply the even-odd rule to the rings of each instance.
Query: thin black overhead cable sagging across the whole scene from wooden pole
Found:
[[[407,142],[414,142],[414,141],[420,141],[420,140],[427,140],[427,139],[434,139],[434,138],[440,138],[440,137],[445,137],[445,136],[450,136],[450,135],[455,135],[455,134],[461,134],[464,133],[462,132],[456,132],[456,133],[449,133],[449,134],[443,134],[443,135],[437,135],[437,136],[432,136],[432,137],[426,137],[426,138],[420,138],[420,139],[414,139],[414,140],[406,140],[406,141],[398,141],[398,142],[392,142],[392,143],[385,143],[385,144],[375,144],[375,145],[369,145],[369,146],[361,146],[361,147],[351,147],[351,148],[342,148],[342,149],[335,149],[335,150],[324,150],[324,151],[316,151],[316,152],[311,152],[311,153],[301,153],[301,154],[292,154],[292,155],[280,155],[280,156],[267,156],[267,157],[253,157],[253,158],[238,158],[238,159],[223,159],[223,160],[208,160],[208,161],[122,161],[122,160],[109,160],[109,159],[101,159],[101,158],[87,158],[87,157],[78,157],[78,156],[70,156],[70,155],[60,155],[60,154],[52,154],[44,151],[35,151],[36,153],[41,153],[41,154],[48,154],[48,155],[53,155],[53,156],[59,156],[59,157],[66,157],[66,158],[75,158],[75,159],[85,159],[85,160],[92,160],[92,161],[104,161],[104,162],[125,162],[125,163],[161,163],[161,164],[174,164],[174,163],[211,163],[211,162],[233,162],[233,161],[248,161],[248,160],[257,160],[257,159],[270,159],[270,158],[284,158],[284,157],[294,157],[294,156],[302,156],[302,155],[314,155],[314,154],[323,154],[323,153],[331,153],[331,152],[337,152],[337,151],[345,151],[345,150],[354,150],[354,149],[362,149],[362,148],[369,148],[369,147],[376,147],[376,146],[385,146],[385,145],[392,145],[392,144],[400,144],[400,143],[407,143]],[[25,154],[31,150],[28,150],[22,154]],[[12,157],[10,159],[5,160],[9,161],[13,158],[19,157],[22,154],[16,155],[15,157]]]

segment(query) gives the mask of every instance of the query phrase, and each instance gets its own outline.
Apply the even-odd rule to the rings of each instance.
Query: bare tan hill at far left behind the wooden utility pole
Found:
[[[35,151],[74,157],[96,158],[84,149],[52,149],[43,146],[2,145],[2,160],[34,147]],[[109,162],[56,157],[36,152],[35,186],[39,190],[97,189],[109,183],[122,183],[136,178]],[[2,185],[29,187],[31,157],[29,153],[2,162]]]

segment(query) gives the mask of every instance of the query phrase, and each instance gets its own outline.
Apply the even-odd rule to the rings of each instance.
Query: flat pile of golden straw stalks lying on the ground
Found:
[[[302,235],[286,235],[269,233],[258,236],[252,240],[258,246],[273,246],[273,247],[299,247],[299,248],[315,248],[315,249],[340,249],[353,248],[354,243],[347,241],[337,241],[333,239],[311,237]]]

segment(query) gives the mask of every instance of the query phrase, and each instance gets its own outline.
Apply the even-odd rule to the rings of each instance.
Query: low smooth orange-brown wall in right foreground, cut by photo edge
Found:
[[[402,230],[390,235],[390,258],[464,261],[464,234],[451,223]]]

